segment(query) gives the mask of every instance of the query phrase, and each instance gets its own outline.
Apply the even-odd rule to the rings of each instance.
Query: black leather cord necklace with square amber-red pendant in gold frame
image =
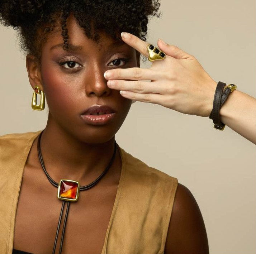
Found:
[[[57,183],[57,182],[53,181],[53,179],[49,176],[49,174],[47,173],[46,168],[44,166],[43,157],[42,157],[42,153],[41,153],[41,136],[42,136],[42,133],[43,133],[43,131],[38,136],[38,142],[37,142],[38,157],[39,157],[41,166],[43,168],[43,171],[46,174],[46,177],[48,178],[49,182],[53,186],[58,187],[57,197],[60,200],[63,200],[62,206],[61,206],[61,212],[60,212],[60,219],[58,221],[57,232],[56,232],[56,236],[55,236],[55,240],[54,240],[54,246],[53,246],[52,254],[54,254],[55,250],[56,250],[56,244],[57,244],[58,234],[59,234],[59,231],[60,231],[62,214],[63,214],[64,206],[67,203],[66,214],[65,214],[65,218],[64,218],[64,222],[63,222],[63,229],[62,229],[62,234],[61,234],[61,243],[60,243],[60,251],[59,251],[59,254],[61,254],[70,202],[77,201],[80,191],[85,191],[85,190],[90,189],[96,183],[98,183],[100,181],[100,179],[106,174],[106,172],[111,167],[111,165],[114,161],[115,154],[116,154],[116,151],[117,151],[117,142],[116,141],[114,142],[115,147],[114,147],[114,153],[112,155],[112,158],[110,159],[110,162],[109,162],[108,166],[106,166],[106,168],[100,174],[100,176],[98,178],[96,178],[93,182],[91,182],[91,183],[89,183],[85,186],[80,187],[79,182],[68,180],[68,179],[61,179],[60,182]]]

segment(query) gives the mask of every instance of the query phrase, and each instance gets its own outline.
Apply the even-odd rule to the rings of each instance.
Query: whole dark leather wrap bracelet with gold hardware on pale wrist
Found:
[[[225,86],[226,83],[223,83],[221,81],[218,82],[213,100],[213,110],[209,116],[209,118],[213,120],[213,128],[216,130],[224,130],[226,126],[221,122],[219,110],[221,109],[224,102],[227,100],[228,95],[236,89],[236,85],[229,84],[228,86],[226,86],[223,92],[223,88]]]

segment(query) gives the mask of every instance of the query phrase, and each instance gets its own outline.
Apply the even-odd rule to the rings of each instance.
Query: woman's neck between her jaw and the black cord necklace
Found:
[[[56,182],[71,179],[80,181],[82,185],[88,184],[109,164],[114,153],[114,141],[115,137],[105,143],[85,143],[56,124],[47,122],[41,137],[45,168]],[[114,167],[115,161],[110,169]]]

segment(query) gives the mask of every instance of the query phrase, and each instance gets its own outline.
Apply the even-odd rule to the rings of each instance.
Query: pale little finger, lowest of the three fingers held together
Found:
[[[131,91],[120,91],[120,94],[130,100],[149,102],[154,104],[160,104],[162,101],[162,96],[160,94],[137,94]]]

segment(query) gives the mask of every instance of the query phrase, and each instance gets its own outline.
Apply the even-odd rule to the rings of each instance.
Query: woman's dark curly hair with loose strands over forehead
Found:
[[[148,16],[159,18],[159,7],[159,0],[0,0],[0,22],[17,29],[21,48],[40,59],[42,43],[58,22],[63,49],[68,49],[66,23],[71,13],[97,43],[99,32],[115,40],[120,39],[117,32],[129,32],[145,41]]]

